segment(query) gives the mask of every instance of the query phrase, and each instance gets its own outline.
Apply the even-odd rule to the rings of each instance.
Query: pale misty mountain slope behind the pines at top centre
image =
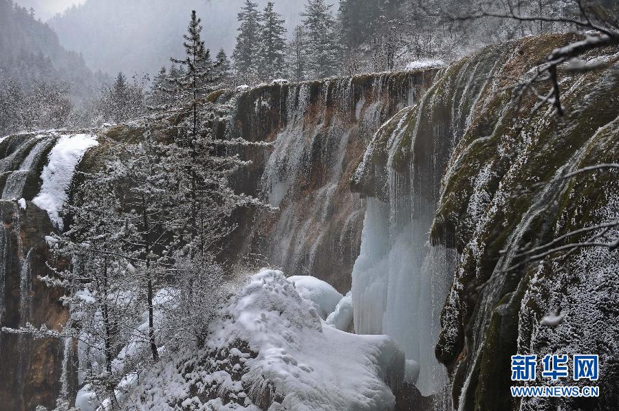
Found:
[[[191,10],[204,25],[206,46],[215,54],[224,47],[230,54],[237,36],[237,12],[242,0],[87,0],[54,16],[48,23],[61,43],[83,54],[87,65],[108,73],[155,72],[181,56],[182,35]],[[258,1],[261,8],[266,0]],[[288,31],[301,17],[304,0],[275,1]]]

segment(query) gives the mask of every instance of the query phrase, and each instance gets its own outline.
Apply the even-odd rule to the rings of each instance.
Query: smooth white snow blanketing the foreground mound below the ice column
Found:
[[[297,290],[326,291],[315,278],[290,281],[296,281]],[[248,360],[251,374],[272,381],[276,392],[285,395],[287,410],[392,408],[393,394],[382,380],[388,364],[402,356],[395,342],[384,335],[352,335],[323,326],[291,282],[281,271],[253,276],[228,309],[232,321],[222,324],[213,343],[230,344],[237,337],[248,341],[259,353]]]

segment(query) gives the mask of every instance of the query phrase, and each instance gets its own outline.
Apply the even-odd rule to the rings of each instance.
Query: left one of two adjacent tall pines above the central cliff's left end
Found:
[[[260,41],[260,13],[258,4],[245,0],[238,14],[240,23],[237,45],[232,53],[239,74],[252,75],[257,73],[257,49]]]

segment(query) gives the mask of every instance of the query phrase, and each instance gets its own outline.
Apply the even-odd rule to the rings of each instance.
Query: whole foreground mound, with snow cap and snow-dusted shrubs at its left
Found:
[[[137,409],[382,411],[403,379],[390,337],[328,326],[281,271],[263,270],[221,310],[204,350],[162,362],[131,399]]]

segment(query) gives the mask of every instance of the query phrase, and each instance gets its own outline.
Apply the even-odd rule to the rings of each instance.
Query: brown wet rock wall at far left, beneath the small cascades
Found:
[[[19,328],[30,322],[59,329],[67,320],[58,302],[62,293],[36,279],[49,274],[45,235],[53,229],[47,213],[30,202],[22,210],[14,201],[0,201],[0,214],[1,325]],[[29,286],[24,287],[24,280]],[[62,386],[63,357],[58,340],[0,333],[0,410],[54,406]]]

